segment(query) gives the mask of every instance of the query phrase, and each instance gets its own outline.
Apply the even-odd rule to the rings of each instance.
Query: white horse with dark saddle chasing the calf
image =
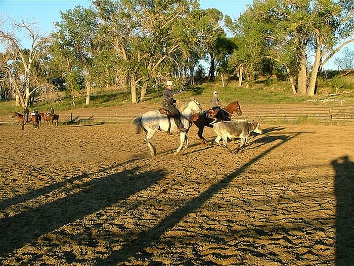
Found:
[[[187,132],[180,132],[180,146],[176,149],[175,154],[178,154],[182,148],[188,147],[188,130],[192,126],[190,123],[190,117],[192,112],[199,113],[202,111],[200,103],[194,99],[188,103],[185,110],[182,111],[181,121],[185,128],[187,128]],[[156,154],[155,146],[150,142],[150,139],[154,136],[156,131],[160,130],[166,133],[178,133],[178,128],[174,123],[173,118],[169,118],[166,115],[162,115],[159,111],[149,111],[143,115],[137,116],[134,121],[134,125],[136,126],[136,134],[141,133],[142,130],[145,131],[146,135],[144,140],[148,144],[150,149],[150,153],[152,156]],[[185,146],[183,144],[186,143]]]

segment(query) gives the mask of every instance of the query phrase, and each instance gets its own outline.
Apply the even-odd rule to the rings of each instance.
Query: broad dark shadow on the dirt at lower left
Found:
[[[81,184],[79,192],[0,221],[0,257],[35,238],[146,189],[165,176],[139,168]]]

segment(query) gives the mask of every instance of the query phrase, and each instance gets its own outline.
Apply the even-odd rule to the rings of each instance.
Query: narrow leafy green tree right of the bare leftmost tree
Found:
[[[61,22],[56,23],[57,31],[52,34],[54,60],[63,59],[67,82],[79,89],[78,78],[84,78],[85,104],[90,104],[91,91],[97,71],[103,61],[100,21],[93,9],[75,7],[61,13]]]

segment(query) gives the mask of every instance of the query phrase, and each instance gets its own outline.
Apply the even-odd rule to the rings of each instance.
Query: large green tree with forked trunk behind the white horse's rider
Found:
[[[131,91],[131,101],[144,101],[148,82],[172,70],[175,55],[182,50],[187,20],[197,7],[194,0],[94,1],[103,22],[103,32],[115,50],[119,72]]]

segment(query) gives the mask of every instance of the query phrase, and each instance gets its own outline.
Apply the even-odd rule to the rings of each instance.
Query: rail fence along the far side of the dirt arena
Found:
[[[323,124],[354,123],[354,105],[335,107],[242,107],[242,116],[234,114],[232,119],[261,119],[263,123],[314,122]],[[139,111],[107,112],[107,111],[65,111],[58,112],[61,124],[84,123],[126,123],[139,115]],[[18,121],[11,114],[0,117],[0,125],[15,125]]]

